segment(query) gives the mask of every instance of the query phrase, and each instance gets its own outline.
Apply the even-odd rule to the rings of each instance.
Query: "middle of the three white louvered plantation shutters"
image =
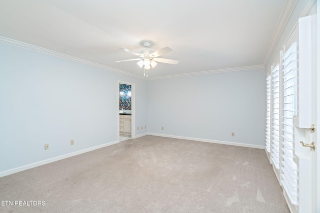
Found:
[[[270,158],[272,164],[279,170],[279,141],[280,141],[280,77],[279,64],[272,69],[272,113],[271,113],[271,146]]]

